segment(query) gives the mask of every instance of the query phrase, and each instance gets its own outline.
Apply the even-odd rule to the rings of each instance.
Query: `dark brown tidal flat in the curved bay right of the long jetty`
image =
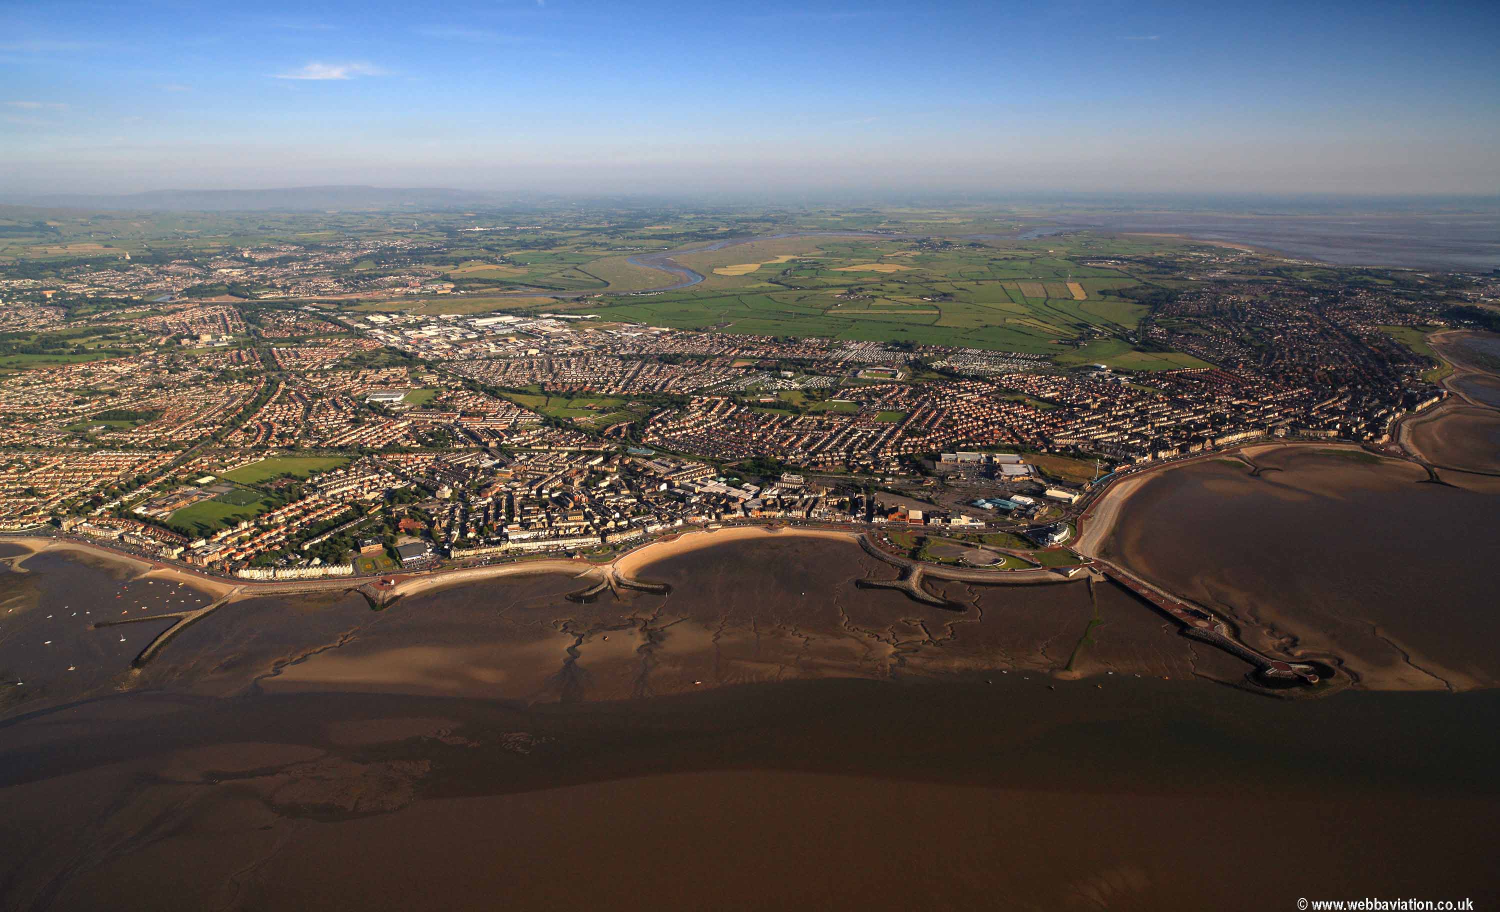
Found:
[[[1106,556],[1233,618],[1257,648],[1362,687],[1500,682],[1500,496],[1356,450],[1264,448],[1152,476]]]

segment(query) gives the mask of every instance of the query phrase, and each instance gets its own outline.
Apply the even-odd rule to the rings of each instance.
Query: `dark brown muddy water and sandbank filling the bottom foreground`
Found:
[[[1492,891],[1473,879],[1500,810],[1492,692],[1286,702],[1012,674],[530,708],[122,702],[141,711],[0,728],[6,908],[1096,909]],[[1462,754],[1431,748],[1464,728]]]

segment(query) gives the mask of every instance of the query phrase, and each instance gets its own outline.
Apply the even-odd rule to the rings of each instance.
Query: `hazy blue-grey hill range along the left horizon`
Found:
[[[268,190],[150,190],[146,194],[6,194],[0,202],[74,210],[132,212],[392,212],[464,208],[492,194],[444,188],[280,188]]]

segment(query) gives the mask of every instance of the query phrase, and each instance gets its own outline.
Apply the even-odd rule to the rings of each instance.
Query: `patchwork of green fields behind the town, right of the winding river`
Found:
[[[1058,249],[1060,242],[1047,243],[1052,246],[1008,242],[933,250],[888,238],[758,240],[675,255],[704,274],[704,282],[690,288],[556,306],[586,306],[604,320],[676,328],[1036,354],[1056,354],[1058,340],[1131,332],[1149,312],[1110,294],[1138,285],[1142,278],[1083,261],[1144,244],[1084,237],[1077,250],[1065,250]],[[760,266],[748,270],[753,264]],[[1088,300],[1074,300],[1070,280],[1086,290]]]

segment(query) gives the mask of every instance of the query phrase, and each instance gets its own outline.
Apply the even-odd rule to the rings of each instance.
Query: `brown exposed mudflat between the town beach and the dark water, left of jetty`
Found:
[[[330,608],[322,616],[346,615],[358,627],[320,620],[322,636],[300,646],[303,657],[258,686],[534,704],[792,678],[1114,670],[1232,681],[1245,672],[1227,656],[1194,654],[1173,626],[1113,584],[938,584],[934,592],[952,604],[942,609],[861,588],[861,579],[897,572],[842,536],[716,532],[650,555],[657,560],[622,567],[666,584],[666,594],[606,591],[579,603],[566,597],[578,582],[546,574],[465,584],[405,598],[378,615]],[[266,618],[246,621],[228,636],[252,644],[252,630],[268,626]],[[194,636],[174,648],[219,654],[230,644],[207,645],[213,627],[189,632]]]

